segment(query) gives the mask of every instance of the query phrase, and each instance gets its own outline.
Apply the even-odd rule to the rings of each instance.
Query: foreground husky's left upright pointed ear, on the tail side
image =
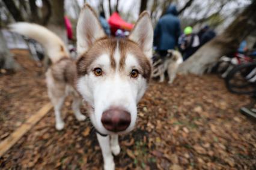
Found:
[[[76,26],[76,40],[78,53],[84,53],[93,43],[106,37],[96,12],[90,5],[85,4],[81,10],[78,18],[78,25]]]

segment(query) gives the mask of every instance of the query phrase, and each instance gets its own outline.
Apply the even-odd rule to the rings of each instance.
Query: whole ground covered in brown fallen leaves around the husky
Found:
[[[49,102],[43,68],[24,51],[16,59],[25,69],[0,75],[0,140]],[[255,122],[239,113],[249,100],[229,93],[215,75],[152,81],[136,129],[120,137],[117,169],[256,169]],[[0,169],[102,169],[90,120],[78,122],[70,104],[62,110],[64,130],[55,130],[51,110],[0,158]]]

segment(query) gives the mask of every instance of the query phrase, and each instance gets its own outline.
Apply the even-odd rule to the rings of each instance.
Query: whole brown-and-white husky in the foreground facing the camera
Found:
[[[47,29],[29,23],[16,23],[10,28],[41,42],[52,60],[46,80],[55,108],[56,129],[64,127],[60,110],[66,95],[74,96],[73,110],[78,120],[85,119],[79,110],[84,99],[98,131],[104,168],[115,169],[112,153],[120,153],[118,134],[134,128],[136,106],[151,77],[153,27],[148,13],[141,14],[127,39],[115,39],[106,37],[96,13],[85,5],[77,25],[76,61]]]

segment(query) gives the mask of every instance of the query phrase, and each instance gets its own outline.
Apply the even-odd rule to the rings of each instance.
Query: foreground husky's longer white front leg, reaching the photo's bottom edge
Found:
[[[105,170],[114,170],[115,169],[115,163],[114,163],[114,157],[111,153],[111,147],[110,147],[110,138],[108,136],[101,136],[97,133],[97,139],[100,144],[100,148],[102,149],[102,156],[104,160],[104,169]]]

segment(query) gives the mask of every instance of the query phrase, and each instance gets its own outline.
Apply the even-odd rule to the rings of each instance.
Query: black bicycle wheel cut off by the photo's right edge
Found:
[[[230,92],[253,95],[256,93],[256,63],[245,63],[234,67],[225,78],[225,84]]]

